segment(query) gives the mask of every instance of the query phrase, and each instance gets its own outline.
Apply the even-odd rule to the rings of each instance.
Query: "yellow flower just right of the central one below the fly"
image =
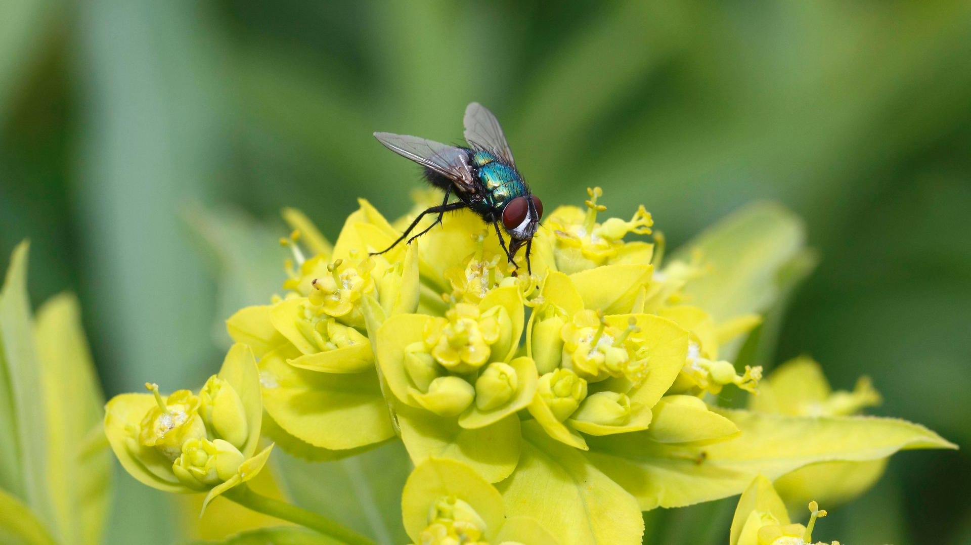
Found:
[[[652,426],[653,407],[684,368],[689,335],[665,318],[631,313],[642,300],[631,294],[644,293],[651,273],[650,265],[611,265],[547,276],[526,347],[546,371],[529,412],[553,438],[586,450],[582,433],[611,435]],[[619,314],[604,316],[589,308],[591,303]],[[684,430],[659,436],[694,443],[738,431],[720,415],[706,415],[701,405],[693,408],[691,420],[676,418],[687,410],[684,404],[667,410],[661,425],[677,422]]]

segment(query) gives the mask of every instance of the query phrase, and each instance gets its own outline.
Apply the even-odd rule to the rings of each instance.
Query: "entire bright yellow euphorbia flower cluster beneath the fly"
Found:
[[[417,543],[636,543],[641,511],[739,494],[759,473],[792,497],[818,494],[787,477],[831,463],[879,476],[896,450],[950,446],[921,426],[842,416],[878,395],[867,382],[800,386],[804,367],[781,368],[751,410],[718,407],[725,387],[763,386],[761,367],[731,360],[773,302],[756,280],[776,265],[750,258],[735,281],[731,253],[699,251],[662,268],[663,237],[637,240],[653,233],[644,207],[600,221],[602,191],[587,193],[586,210],[557,208],[537,232],[531,274],[469,211],[380,254],[409,218],[386,221],[361,200],[331,245],[285,211],[283,293],[229,318],[237,344],[201,392],[113,399],[117,458],[151,486],[208,501],[262,467],[261,429],[307,460],[400,438],[416,466],[402,506]],[[757,304],[713,299],[743,285]],[[872,482],[817,480],[846,496]],[[732,543],[810,538],[812,522],[796,528],[771,507],[746,511]]]

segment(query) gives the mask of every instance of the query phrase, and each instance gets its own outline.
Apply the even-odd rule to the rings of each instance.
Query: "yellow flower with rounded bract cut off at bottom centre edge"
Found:
[[[556,543],[536,521],[507,516],[498,491],[455,460],[419,463],[408,477],[401,505],[405,530],[420,545]]]

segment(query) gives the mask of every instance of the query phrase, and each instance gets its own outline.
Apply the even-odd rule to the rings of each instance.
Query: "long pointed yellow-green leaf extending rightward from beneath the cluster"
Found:
[[[900,450],[956,448],[933,431],[902,420],[713,410],[742,434],[704,447],[661,445],[633,433],[590,437],[586,456],[647,511],[740,494],[759,473],[776,479],[820,461],[880,460]]]

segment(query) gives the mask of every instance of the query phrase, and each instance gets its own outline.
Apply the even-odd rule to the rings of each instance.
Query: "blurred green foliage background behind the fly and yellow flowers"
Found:
[[[0,266],[29,237],[35,302],[80,294],[109,395],[194,384],[224,307],[259,302],[217,292],[193,233],[231,244],[197,205],[298,206],[332,236],[357,196],[397,216],[418,170],[371,133],[452,142],[473,100],[548,210],[599,185],[672,247],[757,199],[805,218],[821,261],[775,362],[869,374],[877,414],[965,449],[895,456],[816,537],[971,543],[967,1],[2,0]],[[173,539],[162,494],[119,481],[110,538]],[[722,543],[734,501],[648,538]]]

